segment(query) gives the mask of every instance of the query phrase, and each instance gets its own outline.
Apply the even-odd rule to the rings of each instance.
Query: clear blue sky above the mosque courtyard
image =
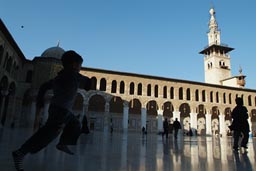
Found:
[[[57,45],[73,49],[83,66],[204,82],[209,9],[221,43],[256,89],[256,1],[234,0],[3,0],[0,17],[28,59]],[[24,26],[23,28],[21,26]]]

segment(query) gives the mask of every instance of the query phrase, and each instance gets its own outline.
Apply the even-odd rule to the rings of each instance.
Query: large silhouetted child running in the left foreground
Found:
[[[68,145],[75,145],[81,134],[81,126],[77,117],[72,113],[77,90],[81,85],[89,90],[90,79],[79,74],[83,62],[82,57],[75,51],[66,51],[62,58],[63,69],[58,75],[42,84],[37,95],[37,108],[44,106],[44,95],[47,90],[53,90],[48,119],[44,126],[39,128],[18,150],[12,152],[14,165],[17,171],[23,171],[24,157],[30,153],[37,153],[52,142],[62,131],[58,150],[74,154]]]

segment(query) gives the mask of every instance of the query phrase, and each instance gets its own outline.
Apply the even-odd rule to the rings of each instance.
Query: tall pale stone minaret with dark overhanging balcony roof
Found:
[[[208,46],[199,53],[204,55],[205,82],[222,85],[223,80],[231,77],[229,52],[233,48],[221,44],[214,8],[209,12]]]

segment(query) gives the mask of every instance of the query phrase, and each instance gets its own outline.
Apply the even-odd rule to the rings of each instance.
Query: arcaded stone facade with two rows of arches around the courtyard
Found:
[[[0,20],[2,126],[33,127],[36,118],[40,124],[46,121],[52,93],[47,93],[40,116],[36,116],[35,98],[39,86],[61,70],[64,52],[59,46],[49,49],[33,60],[26,59]],[[78,90],[73,110],[87,115],[92,130],[108,131],[112,122],[114,131],[141,131],[145,127],[148,132],[159,132],[164,118],[170,123],[178,118],[184,133],[192,129],[198,135],[225,136],[235,98],[243,97],[252,133],[256,131],[256,90],[87,67],[81,74],[92,79],[92,86],[90,91]]]

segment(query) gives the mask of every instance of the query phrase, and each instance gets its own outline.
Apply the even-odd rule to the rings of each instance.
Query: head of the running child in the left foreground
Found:
[[[65,69],[80,70],[83,58],[73,50],[66,51],[61,57],[62,65]]]

